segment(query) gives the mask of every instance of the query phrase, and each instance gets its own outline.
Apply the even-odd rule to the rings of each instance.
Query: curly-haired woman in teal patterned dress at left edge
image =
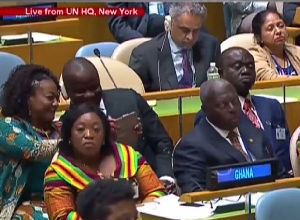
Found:
[[[47,220],[44,174],[57,151],[52,121],[59,82],[50,70],[22,65],[12,71],[1,96],[0,219]]]

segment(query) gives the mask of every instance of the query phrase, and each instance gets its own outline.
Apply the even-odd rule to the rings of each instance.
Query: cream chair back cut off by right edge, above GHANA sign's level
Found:
[[[293,173],[295,177],[299,177],[300,176],[300,164],[299,164],[299,157],[298,153],[300,153],[300,149],[298,150],[298,147],[300,148],[300,127],[298,127],[292,137],[291,137],[291,141],[290,141],[290,160],[291,160],[291,164],[292,164],[292,169],[293,169]],[[299,146],[297,146],[299,145]]]

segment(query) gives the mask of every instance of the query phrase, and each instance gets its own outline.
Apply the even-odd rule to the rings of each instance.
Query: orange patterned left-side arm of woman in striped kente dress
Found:
[[[44,197],[49,219],[82,220],[75,208],[74,191],[50,166],[45,174]]]

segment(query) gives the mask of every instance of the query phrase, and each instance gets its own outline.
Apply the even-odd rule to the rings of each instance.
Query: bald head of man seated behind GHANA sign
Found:
[[[241,106],[235,88],[224,79],[204,82],[200,88],[202,110],[208,120],[224,130],[238,127]]]

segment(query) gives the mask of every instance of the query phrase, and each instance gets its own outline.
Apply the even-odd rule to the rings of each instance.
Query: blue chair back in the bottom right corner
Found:
[[[264,194],[255,207],[256,220],[300,219],[300,189],[280,189]]]

